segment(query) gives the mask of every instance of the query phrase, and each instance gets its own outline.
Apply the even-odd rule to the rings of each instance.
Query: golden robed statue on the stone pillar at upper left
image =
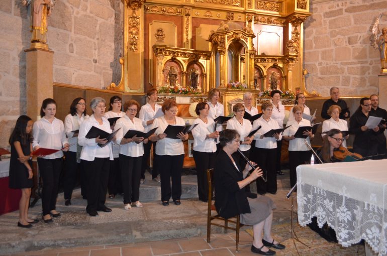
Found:
[[[31,15],[31,43],[45,44],[47,42],[47,17],[50,16],[54,6],[53,0],[21,1],[24,6],[28,6]]]

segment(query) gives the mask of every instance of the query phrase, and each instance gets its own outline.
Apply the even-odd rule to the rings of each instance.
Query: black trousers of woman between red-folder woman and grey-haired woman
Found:
[[[76,162],[76,152],[64,152],[63,192],[64,199],[71,199],[72,191],[80,180],[80,193],[86,197],[86,174],[83,165]]]

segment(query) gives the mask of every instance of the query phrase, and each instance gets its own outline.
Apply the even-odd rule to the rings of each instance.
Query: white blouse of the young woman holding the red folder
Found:
[[[43,116],[40,120],[34,122],[32,130],[34,135],[32,142],[33,148],[39,146],[40,148],[60,150],[66,143],[68,143],[64,132],[64,124],[56,117],[54,117],[54,120],[50,122]],[[56,159],[61,157],[63,157],[63,152],[60,150],[42,158]]]

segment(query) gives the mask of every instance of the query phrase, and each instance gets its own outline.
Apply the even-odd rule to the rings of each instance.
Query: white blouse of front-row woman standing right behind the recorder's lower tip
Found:
[[[255,135],[255,147],[260,149],[276,149],[277,148],[277,140],[274,137],[259,139],[261,135],[264,135],[265,133],[269,132],[272,129],[280,129],[282,126],[279,126],[278,122],[276,122],[274,119],[270,118],[269,121],[266,121],[263,119],[263,115],[256,119],[253,122],[253,130],[257,129],[258,126],[261,125],[261,129],[259,129]],[[282,139],[282,134],[279,135],[278,141]]]

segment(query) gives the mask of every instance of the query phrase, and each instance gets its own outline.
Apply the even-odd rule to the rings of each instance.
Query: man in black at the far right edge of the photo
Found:
[[[376,94],[372,94],[370,97],[372,108],[371,108],[371,115],[375,115],[377,117],[381,117],[381,122],[379,124],[379,132],[377,135],[377,154],[386,154],[387,153],[387,143],[384,136],[384,130],[387,128],[387,111],[383,108],[379,107],[379,97]],[[385,157],[383,157],[385,158]]]

